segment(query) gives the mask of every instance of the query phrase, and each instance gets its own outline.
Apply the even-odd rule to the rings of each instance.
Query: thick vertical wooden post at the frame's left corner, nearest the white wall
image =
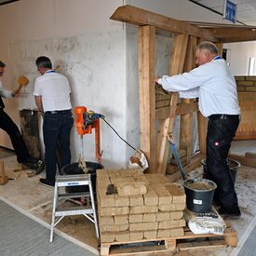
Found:
[[[141,150],[148,162],[148,172],[155,172],[155,27],[139,28],[139,82]]]

